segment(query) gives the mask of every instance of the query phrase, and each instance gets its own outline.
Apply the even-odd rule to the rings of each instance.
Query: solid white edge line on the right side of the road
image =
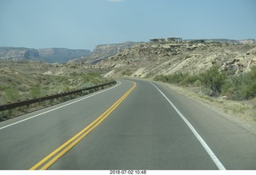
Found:
[[[152,82],[150,82],[156,89],[158,89],[157,86],[155,86]],[[220,170],[226,170],[226,168],[222,165],[222,162],[218,160],[218,157],[214,154],[214,152],[210,149],[210,147],[206,144],[206,141],[202,139],[202,137],[199,135],[199,133],[194,129],[193,125],[190,124],[190,121],[186,119],[182,115],[182,113],[176,108],[176,106],[166,97],[165,93],[162,93],[160,89],[158,91],[162,94],[163,97],[166,98],[166,100],[170,103],[170,105],[176,110],[178,115],[182,117],[182,120],[185,121],[186,125],[190,128],[190,130],[194,133],[195,137],[198,138],[198,141],[200,141],[201,145],[204,149],[206,149],[206,152],[209,154],[210,158],[214,161],[215,165],[217,165],[218,169]]]

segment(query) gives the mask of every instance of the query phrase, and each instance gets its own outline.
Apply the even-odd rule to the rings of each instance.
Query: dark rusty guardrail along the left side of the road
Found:
[[[0,121],[3,120],[5,117],[2,112],[3,111],[6,111],[6,110],[10,110],[10,113],[11,113],[11,110],[12,109],[16,109],[16,108],[19,108],[19,107],[22,107],[22,106],[26,106],[26,108],[29,108],[30,105],[34,104],[34,103],[39,103],[39,102],[42,102],[42,101],[49,101],[49,100],[54,100],[54,99],[58,99],[60,97],[66,97],[66,96],[70,96],[70,95],[77,95],[77,94],[80,94],[80,96],[82,94],[87,94],[88,90],[95,90],[97,91],[99,88],[104,88],[104,86],[112,86],[116,84],[115,81],[113,82],[107,82],[107,83],[104,83],[104,84],[100,84],[98,86],[91,86],[91,87],[87,87],[87,88],[83,88],[83,89],[76,89],[76,90],[73,90],[73,91],[70,91],[70,92],[64,92],[64,93],[58,93],[58,94],[54,94],[54,95],[50,95],[50,96],[46,96],[46,97],[35,97],[33,99],[28,99],[28,100],[25,100],[25,101],[17,101],[17,102],[12,102],[12,103],[8,103],[6,105],[0,105]],[[9,113],[9,115],[10,115]],[[5,118],[7,119],[7,118]]]

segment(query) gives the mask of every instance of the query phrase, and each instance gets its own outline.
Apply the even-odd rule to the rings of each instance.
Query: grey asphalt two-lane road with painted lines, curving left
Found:
[[[0,169],[256,169],[256,135],[154,82],[0,123]]]

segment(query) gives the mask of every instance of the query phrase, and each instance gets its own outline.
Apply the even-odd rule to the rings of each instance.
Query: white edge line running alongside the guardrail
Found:
[[[117,82],[118,82],[118,81],[117,81]],[[36,115],[34,115],[34,116],[32,116],[32,117],[28,117],[28,118],[23,119],[23,120],[21,120],[21,121],[14,122],[14,123],[12,123],[12,124],[10,124],[10,125],[5,125],[5,126],[3,126],[2,128],[0,128],[0,130],[1,130],[1,129],[5,129],[5,128],[11,126],[11,125],[16,125],[16,124],[21,123],[21,122],[23,122],[23,121],[30,120],[31,118],[38,117],[38,116],[40,116],[40,115],[42,115],[42,114],[50,113],[50,112],[52,112],[52,111],[54,111],[54,110],[61,109],[61,108],[65,107],[65,106],[67,106],[67,105],[72,105],[72,104],[74,104],[74,103],[76,103],[76,102],[78,102],[78,101],[82,101],[82,100],[85,100],[86,98],[89,98],[89,97],[93,97],[93,96],[95,96],[95,95],[98,95],[99,93],[103,93],[103,92],[106,92],[107,90],[114,89],[114,88],[116,88],[116,87],[119,86],[119,85],[121,85],[121,82],[118,82],[118,84],[117,84],[116,86],[110,87],[109,89],[101,90],[100,92],[94,93],[94,94],[92,94],[92,95],[90,95],[90,96],[80,98],[80,99],[77,100],[77,101],[72,101],[72,102],[70,102],[70,103],[68,103],[68,104],[66,104],[66,105],[61,105],[61,106],[58,106],[57,108],[47,110],[46,112],[43,112],[43,113],[38,113],[38,114],[36,114]]]

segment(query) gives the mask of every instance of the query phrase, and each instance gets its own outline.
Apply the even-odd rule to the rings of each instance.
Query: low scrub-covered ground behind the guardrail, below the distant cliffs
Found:
[[[107,81],[106,71],[84,62],[0,61],[0,104],[93,86]]]

